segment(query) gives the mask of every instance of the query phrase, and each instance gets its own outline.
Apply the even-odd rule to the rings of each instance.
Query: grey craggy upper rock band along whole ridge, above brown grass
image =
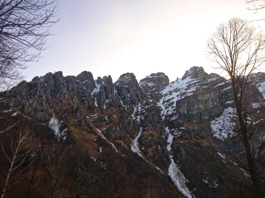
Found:
[[[249,100],[263,102],[265,74],[254,73],[251,80],[247,90]],[[118,117],[120,128],[133,129],[134,135],[140,127],[162,133],[166,127],[173,129],[185,122],[216,117],[233,100],[231,81],[214,73],[207,74],[202,67],[190,68],[181,79],[171,83],[162,72],[152,73],[139,83],[133,73],[125,73],[113,84],[111,76],[94,80],[91,72],[64,77],[59,71],[36,76],[31,82],[22,81],[9,94],[12,97],[4,100],[7,105],[12,107],[22,102],[25,112],[36,118],[42,116],[46,121],[53,116],[52,109],[62,103],[70,105],[81,118],[86,116],[81,107],[99,110],[108,123],[117,120],[114,117],[117,111],[124,112]],[[69,114],[70,111],[63,113],[64,117]]]

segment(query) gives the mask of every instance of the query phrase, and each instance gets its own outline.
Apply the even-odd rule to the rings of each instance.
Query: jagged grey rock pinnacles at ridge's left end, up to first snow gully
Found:
[[[38,120],[48,121],[53,115],[52,109],[59,103],[67,103],[74,110],[79,108],[80,102],[86,107],[94,106],[90,90],[95,87],[90,72],[82,72],[77,77],[64,77],[59,71],[36,76],[30,82],[22,81],[8,93],[15,96],[16,100],[14,97],[7,97],[4,102],[9,106],[22,102],[25,112],[34,114]]]

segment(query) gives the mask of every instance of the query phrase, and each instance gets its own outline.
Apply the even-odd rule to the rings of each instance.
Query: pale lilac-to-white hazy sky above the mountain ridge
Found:
[[[23,72],[27,81],[48,72],[90,71],[94,79],[126,72],[136,79],[164,72],[170,81],[193,66],[206,72],[206,41],[220,22],[254,14],[244,0],[60,0],[61,20],[51,28],[43,58]],[[253,22],[265,27],[265,21]],[[265,29],[265,28],[264,28]]]

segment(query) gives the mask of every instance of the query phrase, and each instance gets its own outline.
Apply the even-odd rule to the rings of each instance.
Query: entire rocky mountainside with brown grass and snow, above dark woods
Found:
[[[265,108],[265,73],[253,73],[250,81],[246,100],[260,112]],[[76,133],[76,138],[98,129],[118,149],[132,150],[166,175],[172,163],[194,159],[196,166],[206,166],[207,157],[218,160],[217,152],[242,152],[238,139],[232,147],[222,144],[229,139],[225,127],[233,125],[225,116],[235,114],[231,80],[207,74],[202,67],[190,68],[171,83],[162,72],[139,83],[133,73],[122,74],[115,83],[111,76],[94,79],[87,71],[66,77],[60,71],[47,73],[11,88],[0,105],[8,106],[7,113],[17,111],[47,127],[56,122],[55,137]],[[264,142],[264,120],[255,123],[257,142]]]

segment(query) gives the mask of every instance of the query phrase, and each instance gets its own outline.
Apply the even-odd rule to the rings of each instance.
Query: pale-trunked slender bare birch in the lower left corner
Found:
[[[30,129],[28,126],[26,126],[25,128],[20,128],[16,139],[15,138],[11,139],[11,143],[10,143],[11,154],[8,154],[6,152],[6,149],[4,148],[3,143],[2,143],[2,151],[5,154],[6,158],[8,159],[8,162],[10,163],[10,165],[6,173],[6,178],[4,181],[1,198],[5,196],[5,193],[8,189],[10,189],[12,186],[14,186],[17,183],[17,181],[11,182],[12,181],[10,178],[11,173],[14,173],[15,170],[18,169],[25,161],[28,161],[30,158],[32,158],[32,157],[29,157],[29,154],[31,151],[30,149],[27,149],[26,151],[21,152],[24,146],[27,145],[28,143],[29,138],[27,136],[29,132],[30,132]],[[19,175],[22,171],[20,171],[17,175]]]

